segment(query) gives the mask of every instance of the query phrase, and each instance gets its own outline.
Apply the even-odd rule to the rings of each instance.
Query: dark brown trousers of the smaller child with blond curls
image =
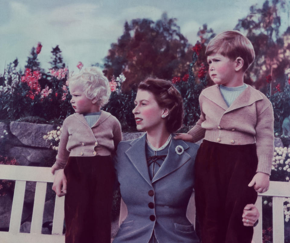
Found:
[[[111,242],[111,156],[69,157],[64,173],[66,243]]]

